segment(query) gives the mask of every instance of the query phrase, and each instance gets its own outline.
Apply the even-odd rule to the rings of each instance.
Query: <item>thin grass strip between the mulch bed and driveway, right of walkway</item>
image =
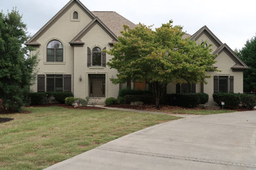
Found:
[[[234,110],[192,110],[192,109],[177,109],[177,110],[167,110],[170,113],[180,113],[180,114],[199,114],[199,115],[206,115],[206,114],[219,114],[219,113],[226,113],[226,112],[235,112]]]

